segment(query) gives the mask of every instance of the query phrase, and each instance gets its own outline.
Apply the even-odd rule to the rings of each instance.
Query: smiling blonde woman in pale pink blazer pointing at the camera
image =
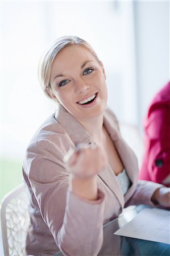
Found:
[[[39,65],[57,102],[30,142],[23,175],[30,192],[27,254],[97,255],[102,226],[131,204],[169,206],[167,188],[138,181],[134,152],[106,108],[105,70],[84,40],[56,40]]]

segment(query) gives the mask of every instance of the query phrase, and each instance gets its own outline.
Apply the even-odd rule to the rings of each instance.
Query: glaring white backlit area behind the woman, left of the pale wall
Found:
[[[132,2],[3,1],[1,28],[2,157],[22,160],[53,112],[38,82],[38,60],[63,35],[92,44],[106,69],[110,108],[119,119],[136,122]]]

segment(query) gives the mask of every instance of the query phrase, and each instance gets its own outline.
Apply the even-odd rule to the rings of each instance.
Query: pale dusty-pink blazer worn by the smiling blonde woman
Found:
[[[23,163],[23,176],[30,193],[31,225],[27,254],[97,255],[103,242],[103,224],[117,217],[130,204],[150,204],[160,185],[138,181],[134,152],[121,137],[115,115],[107,109],[104,125],[131,180],[125,197],[109,163],[97,176],[98,200],[88,201],[68,189],[69,171],[63,157],[77,143],[95,143],[90,134],[59,105],[36,132]]]

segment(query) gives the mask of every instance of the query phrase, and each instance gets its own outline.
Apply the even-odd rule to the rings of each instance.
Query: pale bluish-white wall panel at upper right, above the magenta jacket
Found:
[[[134,1],[138,124],[169,80],[169,1]]]

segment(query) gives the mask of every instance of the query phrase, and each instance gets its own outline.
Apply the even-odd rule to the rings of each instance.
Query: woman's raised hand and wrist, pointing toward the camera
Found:
[[[71,191],[84,199],[97,200],[96,174],[106,166],[106,154],[101,147],[78,144],[77,151],[72,148],[64,157],[72,173]]]

